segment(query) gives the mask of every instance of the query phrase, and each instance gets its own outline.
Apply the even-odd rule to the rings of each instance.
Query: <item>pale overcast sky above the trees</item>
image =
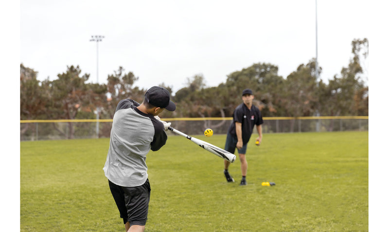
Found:
[[[321,78],[333,79],[351,57],[354,38],[369,38],[366,0],[318,0]],[[148,88],[176,92],[203,74],[207,86],[254,63],[286,78],[316,57],[315,0],[21,0],[20,62],[38,79],[79,65],[99,83],[119,66]]]

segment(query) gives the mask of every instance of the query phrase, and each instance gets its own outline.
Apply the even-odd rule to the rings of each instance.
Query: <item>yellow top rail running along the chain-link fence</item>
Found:
[[[369,116],[318,116],[318,117],[264,117],[264,120],[306,120],[306,119],[369,119]],[[204,121],[232,120],[232,117],[172,117],[161,118],[163,121]],[[20,123],[34,122],[112,122],[112,119],[54,119],[54,120],[20,120]]]

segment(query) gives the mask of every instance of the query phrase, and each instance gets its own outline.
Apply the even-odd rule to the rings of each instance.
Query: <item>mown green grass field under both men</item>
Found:
[[[226,135],[195,137],[224,148]],[[253,139],[248,185],[239,186],[239,158],[228,183],[222,159],[169,135],[146,160],[146,231],[368,231],[368,132],[265,133],[260,147]],[[108,146],[109,139],[20,142],[20,231],[124,231],[102,170]]]

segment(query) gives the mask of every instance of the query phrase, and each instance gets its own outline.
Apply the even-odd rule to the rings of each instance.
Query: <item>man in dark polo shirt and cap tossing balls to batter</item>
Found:
[[[242,180],[240,185],[247,185],[247,160],[246,149],[248,140],[250,140],[254,125],[258,131],[258,137],[255,139],[256,145],[259,146],[262,142],[262,124],[264,120],[260,110],[252,104],[254,95],[251,89],[245,89],[242,92],[243,103],[237,106],[234,110],[233,121],[228,129],[225,150],[230,153],[238,149],[239,159],[241,162]],[[230,162],[224,161],[224,175],[228,182],[235,182],[228,172]]]

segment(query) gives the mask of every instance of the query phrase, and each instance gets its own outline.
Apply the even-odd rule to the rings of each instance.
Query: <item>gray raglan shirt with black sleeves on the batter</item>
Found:
[[[113,116],[106,164],[106,178],[126,187],[146,182],[146,155],[166,144],[163,124],[154,116],[137,109],[140,104],[131,99],[118,103]]]

